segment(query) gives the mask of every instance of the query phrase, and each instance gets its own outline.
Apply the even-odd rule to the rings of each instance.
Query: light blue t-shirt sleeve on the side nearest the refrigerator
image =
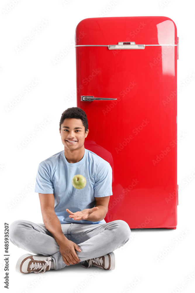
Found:
[[[94,185],[94,197],[112,195],[112,168],[107,162],[98,172]]]

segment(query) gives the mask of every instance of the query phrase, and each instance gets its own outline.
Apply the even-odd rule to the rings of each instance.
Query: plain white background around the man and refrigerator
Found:
[[[4,237],[4,222],[11,224],[17,219],[42,222],[38,194],[34,193],[34,181],[38,164],[63,150],[58,130],[59,120],[65,109],[76,106],[73,43],[75,28],[82,19],[113,16],[170,17],[180,37],[178,86],[186,81],[178,93],[178,136],[180,133],[184,135],[177,145],[180,187],[177,229],[132,229],[132,238],[127,245],[115,251],[116,268],[112,271],[70,266],[58,271],[50,270],[42,275],[19,274],[15,272],[16,261],[27,252],[10,242],[10,289],[4,289],[5,292],[194,292],[195,79],[191,75],[195,72],[194,8],[190,0],[165,0],[164,4],[163,1],[118,0],[110,8],[112,0],[15,0],[15,5],[12,5],[11,0],[1,0],[1,239]],[[47,24],[35,35],[34,29],[43,21]],[[33,35],[33,39],[16,52],[15,48],[29,35]],[[53,60],[67,47],[70,51],[54,65]],[[37,84],[25,95],[23,89],[30,86],[33,79],[37,80]],[[21,94],[23,98],[7,110]],[[50,121],[40,129],[38,125],[46,117]],[[18,145],[32,132],[36,136],[20,150]],[[184,181],[185,178],[189,182]],[[24,196],[15,202],[22,193]],[[178,241],[176,237],[179,237]],[[173,248],[166,252],[170,245]],[[162,259],[157,261],[161,253]],[[2,241],[0,270],[3,287],[5,272]]]

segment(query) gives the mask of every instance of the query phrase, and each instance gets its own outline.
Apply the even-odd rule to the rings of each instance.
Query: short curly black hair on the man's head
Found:
[[[82,121],[82,124],[85,128],[85,132],[88,129],[88,121],[87,121],[87,115],[84,110],[82,110],[79,107],[72,107],[66,109],[60,118],[60,131],[61,131],[61,124],[63,121],[67,118],[75,118],[75,119],[80,119]]]

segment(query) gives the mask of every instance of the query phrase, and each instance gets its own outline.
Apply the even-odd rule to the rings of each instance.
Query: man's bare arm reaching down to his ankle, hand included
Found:
[[[54,194],[39,193],[39,200],[44,225],[58,243],[63,261],[66,265],[80,262],[75,252],[75,249],[81,251],[79,246],[68,240],[62,232],[60,221],[54,211]]]

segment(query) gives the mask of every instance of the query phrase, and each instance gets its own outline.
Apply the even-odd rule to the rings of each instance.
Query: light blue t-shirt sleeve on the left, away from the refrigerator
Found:
[[[54,186],[51,181],[49,170],[46,166],[39,164],[34,192],[54,193]]]

